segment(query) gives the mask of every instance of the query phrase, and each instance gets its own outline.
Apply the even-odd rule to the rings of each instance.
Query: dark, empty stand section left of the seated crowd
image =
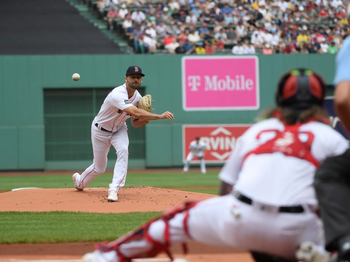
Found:
[[[1,54],[121,53],[65,0],[1,1]]]

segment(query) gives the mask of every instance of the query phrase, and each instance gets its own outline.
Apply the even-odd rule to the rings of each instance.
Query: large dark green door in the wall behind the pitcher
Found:
[[[91,123],[112,89],[44,89],[45,161],[92,161]],[[144,159],[145,129],[127,125],[129,156]],[[116,158],[112,147],[108,159]]]

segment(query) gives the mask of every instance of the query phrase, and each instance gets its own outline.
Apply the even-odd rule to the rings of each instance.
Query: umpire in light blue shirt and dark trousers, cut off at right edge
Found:
[[[347,8],[349,20],[350,9]],[[336,58],[335,109],[350,134],[350,38]],[[326,159],[318,169],[315,188],[324,221],[326,248],[338,253],[337,262],[350,261],[350,151]]]

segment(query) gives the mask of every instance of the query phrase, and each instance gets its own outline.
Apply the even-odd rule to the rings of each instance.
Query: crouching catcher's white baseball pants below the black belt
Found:
[[[259,204],[248,205],[232,194],[214,197],[191,208],[187,220],[189,235],[197,242],[215,246],[255,250],[295,260],[298,245],[304,241],[324,245],[323,226],[316,213],[303,206],[303,213],[281,213],[269,206],[263,211]],[[189,241],[184,230],[185,213],[169,220],[171,243]],[[149,227],[149,236],[164,242],[165,223],[157,220]],[[149,250],[146,239],[121,244],[119,251],[128,257]],[[115,251],[95,250],[99,262],[118,261]]]

